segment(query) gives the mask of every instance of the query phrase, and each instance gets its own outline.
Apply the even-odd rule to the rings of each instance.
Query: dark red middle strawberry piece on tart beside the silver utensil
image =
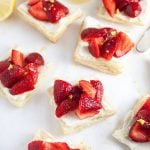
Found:
[[[106,60],[110,60],[117,49],[117,37],[108,39],[101,47],[100,53],[101,57]]]

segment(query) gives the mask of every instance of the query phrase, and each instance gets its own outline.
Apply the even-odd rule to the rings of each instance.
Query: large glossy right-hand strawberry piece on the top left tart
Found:
[[[57,23],[62,17],[65,17],[69,13],[68,8],[58,1],[50,2],[42,0],[42,3],[48,20],[52,23]]]

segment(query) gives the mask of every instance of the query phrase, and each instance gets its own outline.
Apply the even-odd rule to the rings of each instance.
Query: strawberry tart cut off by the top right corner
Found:
[[[103,19],[128,25],[149,22],[149,0],[101,0],[97,15]]]

